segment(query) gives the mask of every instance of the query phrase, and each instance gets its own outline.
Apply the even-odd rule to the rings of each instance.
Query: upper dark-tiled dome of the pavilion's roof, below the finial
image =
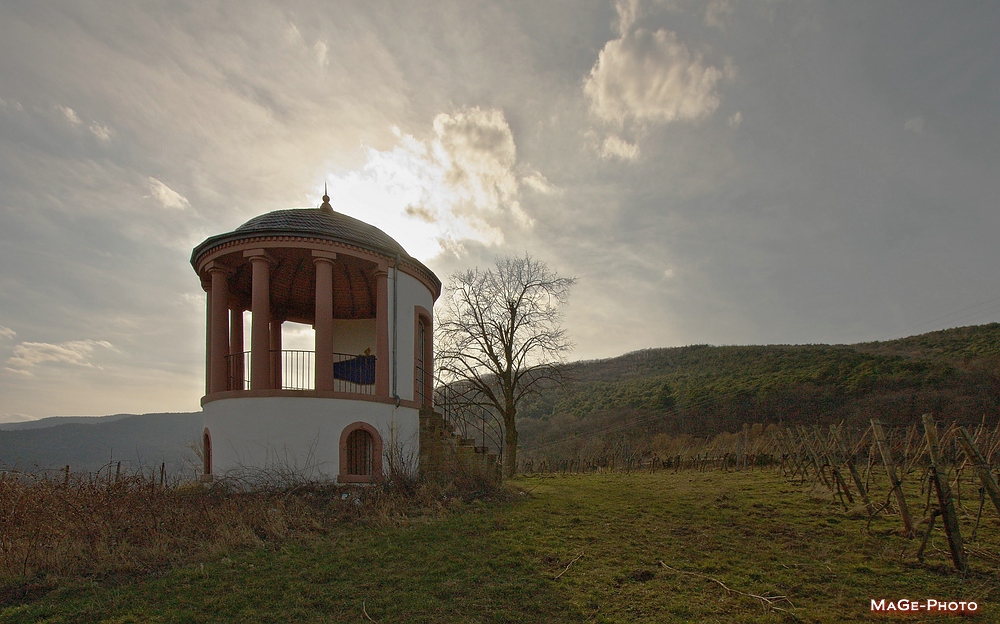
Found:
[[[250,219],[236,228],[233,234],[319,234],[323,238],[380,251],[390,256],[398,253],[410,259],[403,246],[382,230],[332,210],[316,208],[275,210]]]

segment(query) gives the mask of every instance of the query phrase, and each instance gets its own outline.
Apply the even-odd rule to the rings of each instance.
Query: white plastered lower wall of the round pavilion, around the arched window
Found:
[[[398,452],[410,470],[417,468],[420,420],[412,408],[345,399],[248,397],[212,401],[202,412],[212,436],[212,469],[217,476],[242,470],[252,476],[267,469],[335,481],[340,472],[341,433],[358,421],[370,424],[382,436],[383,472],[389,465],[384,455],[390,452]]]

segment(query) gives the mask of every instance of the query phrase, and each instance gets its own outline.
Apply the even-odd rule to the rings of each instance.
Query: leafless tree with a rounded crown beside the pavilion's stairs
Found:
[[[543,380],[559,378],[572,349],[561,307],[574,283],[527,254],[450,278],[436,331],[440,372],[469,404],[501,415],[508,477],[517,471],[518,404]]]

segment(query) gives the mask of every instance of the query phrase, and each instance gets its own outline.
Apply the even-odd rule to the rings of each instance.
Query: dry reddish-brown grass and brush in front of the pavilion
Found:
[[[0,474],[0,604],[68,578],[158,573],[234,550],[307,541],[344,523],[438,516],[501,492],[474,479],[348,487],[243,477],[205,487],[110,465],[96,475]]]

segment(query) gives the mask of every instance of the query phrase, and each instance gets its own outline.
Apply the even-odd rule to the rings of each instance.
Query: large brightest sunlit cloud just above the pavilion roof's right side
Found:
[[[522,185],[542,193],[557,189],[538,171],[518,167],[503,111],[440,113],[432,128],[426,140],[393,128],[399,137],[394,147],[369,148],[360,171],[331,179],[334,209],[384,227],[418,257],[440,253],[449,240],[500,245],[505,232],[530,229]],[[400,232],[400,217],[412,227]]]

